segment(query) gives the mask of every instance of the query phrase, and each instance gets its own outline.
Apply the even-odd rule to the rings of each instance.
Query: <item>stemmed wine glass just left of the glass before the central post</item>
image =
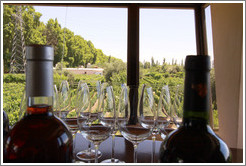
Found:
[[[112,136],[112,153],[111,159],[103,160],[102,163],[122,163],[119,159],[114,156],[115,147],[115,134],[118,130],[117,125],[117,111],[115,107],[115,97],[113,93],[113,87],[108,86],[106,83],[102,85],[102,95],[103,100],[101,101],[101,112],[100,120],[104,126],[109,126],[111,128]]]

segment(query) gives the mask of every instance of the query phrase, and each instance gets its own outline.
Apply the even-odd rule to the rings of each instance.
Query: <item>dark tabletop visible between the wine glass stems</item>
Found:
[[[159,149],[162,143],[160,137],[156,141],[156,152],[155,152],[155,163],[158,163]],[[88,148],[88,141],[80,134],[77,133],[75,136],[75,149],[77,153],[81,150]],[[111,158],[112,139],[109,137],[107,140],[100,144],[99,150],[102,152],[102,156],[99,158],[99,162]],[[151,163],[151,152],[152,152],[152,140],[145,140],[138,145],[137,148],[137,162],[138,163]],[[231,148],[232,161],[234,163],[243,162],[243,150]],[[115,137],[115,158],[120,159],[126,163],[133,163],[133,145],[121,136]],[[94,161],[91,161],[94,162]]]

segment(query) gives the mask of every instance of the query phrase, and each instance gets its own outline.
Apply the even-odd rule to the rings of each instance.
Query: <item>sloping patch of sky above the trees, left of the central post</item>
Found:
[[[127,60],[127,9],[35,6],[41,21],[58,19],[61,27],[91,41],[104,54]]]

